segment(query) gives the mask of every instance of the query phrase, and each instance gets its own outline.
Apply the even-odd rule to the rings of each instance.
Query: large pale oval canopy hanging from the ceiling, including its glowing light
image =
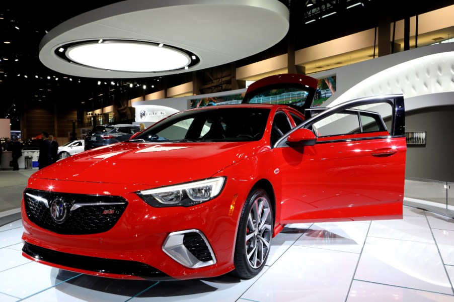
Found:
[[[219,22],[220,16],[235,21]],[[249,57],[281,41],[288,27],[289,11],[279,0],[125,0],[60,23],[41,40],[39,59],[52,70],[79,77],[163,76]],[[114,41],[147,50],[141,59],[141,50],[115,55],[104,48]],[[85,51],[88,42],[101,48]],[[155,55],[148,54],[149,48],[161,44],[157,54],[170,59],[152,64],[148,60]],[[108,57],[110,63],[103,63]]]

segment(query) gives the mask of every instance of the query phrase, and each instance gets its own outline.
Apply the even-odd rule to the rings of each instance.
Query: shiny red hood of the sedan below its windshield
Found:
[[[229,165],[266,150],[269,147],[257,141],[118,143],[60,160],[32,177],[154,187],[211,177]]]

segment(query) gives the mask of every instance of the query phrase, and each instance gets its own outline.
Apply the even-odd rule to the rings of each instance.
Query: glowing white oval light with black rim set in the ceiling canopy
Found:
[[[100,43],[99,41],[102,41]],[[183,49],[144,41],[97,39],[64,45],[55,54],[64,60],[92,68],[122,72],[187,70],[197,56]]]

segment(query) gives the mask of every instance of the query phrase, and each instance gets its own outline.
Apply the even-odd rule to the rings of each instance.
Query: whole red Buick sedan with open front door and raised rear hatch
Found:
[[[286,224],[402,218],[403,96],[309,108],[315,89],[265,78],[245,104],[180,112],[37,171],[23,255],[113,278],[251,278]]]

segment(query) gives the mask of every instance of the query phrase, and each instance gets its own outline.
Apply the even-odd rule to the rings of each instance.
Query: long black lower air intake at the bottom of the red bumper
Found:
[[[62,253],[42,248],[27,242],[24,244],[22,251],[33,259],[69,268],[117,275],[133,275],[148,280],[173,279],[153,266],[136,261],[106,259]]]

